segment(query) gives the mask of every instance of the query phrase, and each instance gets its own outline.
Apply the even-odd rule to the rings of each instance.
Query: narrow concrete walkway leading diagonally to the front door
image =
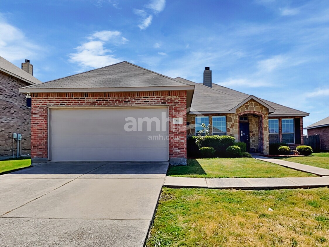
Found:
[[[299,164],[299,163],[295,163],[295,162],[291,162],[291,161],[287,161],[287,160],[273,159],[273,158],[268,158],[268,157],[264,157],[264,156],[260,156],[260,155],[252,155],[252,157],[255,159],[258,159],[258,160],[262,160],[262,161],[274,163],[274,164],[277,164],[280,166],[288,167],[288,168],[291,168],[291,169],[294,169],[297,171],[312,173],[317,176],[329,176],[328,169],[319,168],[316,166],[303,165],[303,164]]]

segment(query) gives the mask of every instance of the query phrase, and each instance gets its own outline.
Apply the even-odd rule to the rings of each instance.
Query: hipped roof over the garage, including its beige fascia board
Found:
[[[169,89],[170,88],[170,89]],[[127,61],[20,89],[38,92],[194,90],[194,86]]]

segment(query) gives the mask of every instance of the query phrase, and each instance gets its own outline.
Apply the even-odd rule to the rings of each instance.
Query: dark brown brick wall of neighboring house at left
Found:
[[[0,72],[0,156],[13,155],[12,133],[22,134],[22,154],[31,153],[31,109],[26,107],[24,94],[20,87],[30,84]],[[16,155],[17,143],[14,142]]]

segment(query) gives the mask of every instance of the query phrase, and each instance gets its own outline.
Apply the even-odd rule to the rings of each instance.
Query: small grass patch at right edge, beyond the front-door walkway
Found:
[[[304,156],[304,157],[276,157],[276,158],[291,161],[291,162],[296,162],[304,165],[329,169],[329,152],[312,153],[311,156]]]

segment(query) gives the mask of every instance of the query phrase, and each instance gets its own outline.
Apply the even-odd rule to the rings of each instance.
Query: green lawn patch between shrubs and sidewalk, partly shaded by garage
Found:
[[[186,166],[170,166],[167,175],[190,178],[316,177],[254,158],[188,159]]]

